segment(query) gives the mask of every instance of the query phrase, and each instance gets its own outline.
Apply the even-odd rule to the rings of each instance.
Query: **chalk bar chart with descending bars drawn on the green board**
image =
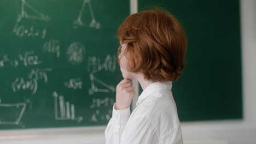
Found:
[[[65,101],[63,95],[58,95],[56,92],[54,92],[53,97],[54,97],[55,119],[57,121],[71,120],[71,121],[77,121],[78,123],[83,121],[83,117],[80,117],[80,116],[75,117],[74,104],[70,104],[69,101]],[[58,100],[59,100],[59,104],[58,104]]]

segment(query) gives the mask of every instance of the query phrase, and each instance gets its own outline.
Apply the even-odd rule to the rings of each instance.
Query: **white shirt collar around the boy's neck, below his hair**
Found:
[[[166,81],[166,82],[153,82],[150,85],[148,85],[144,91],[139,95],[138,101],[136,105],[139,105],[142,103],[143,100],[148,98],[150,94],[152,94],[155,91],[158,91],[159,89],[172,89],[172,81]]]

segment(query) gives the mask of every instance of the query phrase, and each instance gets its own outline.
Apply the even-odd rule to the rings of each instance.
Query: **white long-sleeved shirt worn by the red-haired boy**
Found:
[[[171,92],[172,81],[151,83],[137,107],[115,110],[105,130],[106,144],[182,144],[182,131]]]

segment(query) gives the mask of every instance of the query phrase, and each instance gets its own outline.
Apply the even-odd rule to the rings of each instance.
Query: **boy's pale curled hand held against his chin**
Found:
[[[134,95],[135,92],[132,82],[128,79],[120,81],[117,85],[117,93],[115,95],[115,110],[123,110],[130,107]]]

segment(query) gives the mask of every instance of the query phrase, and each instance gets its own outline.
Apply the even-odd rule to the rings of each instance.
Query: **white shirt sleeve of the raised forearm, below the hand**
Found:
[[[120,142],[130,115],[130,107],[124,110],[115,110],[115,104],[113,105],[112,118],[110,118],[105,130],[106,144],[118,144]]]

